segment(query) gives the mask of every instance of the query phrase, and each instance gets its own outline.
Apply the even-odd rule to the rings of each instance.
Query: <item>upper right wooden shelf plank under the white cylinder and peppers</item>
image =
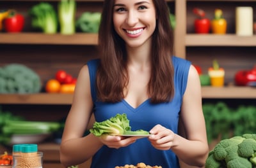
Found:
[[[256,46],[256,36],[187,34],[186,46]]]

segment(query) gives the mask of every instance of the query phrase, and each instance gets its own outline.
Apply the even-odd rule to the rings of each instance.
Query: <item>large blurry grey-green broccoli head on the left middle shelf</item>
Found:
[[[38,74],[22,64],[8,64],[0,67],[1,94],[30,94],[41,90]]]

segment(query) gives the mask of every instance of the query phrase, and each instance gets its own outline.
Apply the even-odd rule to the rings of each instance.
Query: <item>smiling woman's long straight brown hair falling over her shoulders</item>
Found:
[[[148,94],[152,103],[168,102],[174,94],[173,87],[173,32],[169,9],[165,0],[152,0],[156,8],[157,24],[152,34],[152,70],[148,82]],[[104,1],[99,28],[100,64],[97,71],[97,99],[118,102],[124,99],[127,78],[127,54],[125,42],[116,34],[113,26],[115,0]]]

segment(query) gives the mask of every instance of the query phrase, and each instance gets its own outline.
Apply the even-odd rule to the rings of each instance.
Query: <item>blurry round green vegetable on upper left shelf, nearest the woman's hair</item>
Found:
[[[101,13],[86,11],[76,21],[76,28],[82,32],[98,32]]]

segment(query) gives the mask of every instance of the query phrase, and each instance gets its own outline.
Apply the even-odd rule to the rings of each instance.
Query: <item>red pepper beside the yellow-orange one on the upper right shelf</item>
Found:
[[[209,33],[211,29],[211,21],[208,18],[196,18],[194,24],[196,33]]]

